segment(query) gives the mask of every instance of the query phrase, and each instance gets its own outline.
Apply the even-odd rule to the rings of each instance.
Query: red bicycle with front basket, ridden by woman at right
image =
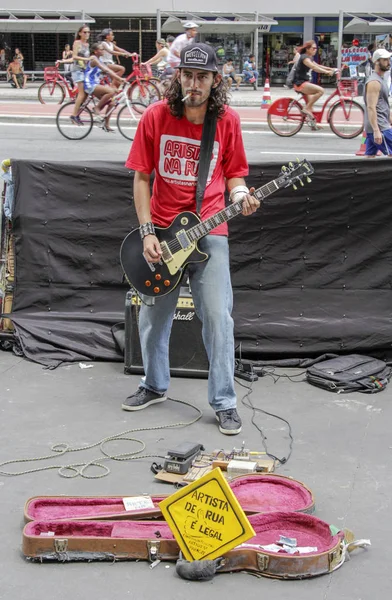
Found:
[[[327,123],[333,133],[343,139],[352,139],[363,132],[364,110],[353,100],[358,95],[358,82],[353,79],[342,78],[340,72],[336,73],[337,88],[325,100],[321,110],[313,110],[314,119],[302,112],[306,105],[307,97],[300,94],[300,98],[279,98],[271,104],[267,113],[269,128],[281,137],[291,137],[298,133],[304,123],[314,128],[314,124],[321,123],[324,111],[331,100],[339,98],[328,107]]]

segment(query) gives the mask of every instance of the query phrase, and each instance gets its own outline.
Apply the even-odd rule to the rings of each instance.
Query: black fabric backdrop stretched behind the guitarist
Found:
[[[230,222],[235,336],[252,358],[385,349],[392,342],[389,160],[314,163]],[[121,360],[119,248],[136,226],[133,173],[118,163],[13,161],[12,320],[26,357],[48,366]],[[251,165],[255,187],[276,164]],[[191,343],[191,342],[190,342]]]

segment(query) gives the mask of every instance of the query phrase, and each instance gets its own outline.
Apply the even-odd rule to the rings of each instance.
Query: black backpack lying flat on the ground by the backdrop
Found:
[[[387,386],[392,369],[383,360],[349,354],[319,362],[306,371],[306,380],[312,385],[338,394],[364,392],[375,394]]]

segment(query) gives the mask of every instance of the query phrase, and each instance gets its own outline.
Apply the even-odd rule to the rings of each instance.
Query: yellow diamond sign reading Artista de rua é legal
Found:
[[[256,535],[219,468],[159,508],[187,560],[217,558]]]

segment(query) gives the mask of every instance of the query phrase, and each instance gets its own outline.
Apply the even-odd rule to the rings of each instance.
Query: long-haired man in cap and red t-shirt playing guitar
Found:
[[[126,166],[135,170],[135,207],[144,257],[149,263],[159,262],[162,256],[154,224],[167,227],[177,214],[196,210],[200,140],[207,111],[216,112],[218,120],[202,219],[224,208],[225,186],[231,201],[244,199],[244,215],[251,215],[259,207],[259,201],[245,186],[248,164],[240,121],[237,113],[226,106],[225,90],[213,49],[201,43],[188,45],[181,52],[179,70],[166,100],[152,104],[142,116]],[[233,292],[227,235],[227,224],[222,223],[200,240],[200,250],[209,258],[190,264],[188,275],[210,364],[209,403],[221,433],[235,435],[240,433],[242,423],[234,389]],[[142,303],[139,335],[146,376],[122,404],[124,410],[140,410],[166,400],[169,337],[178,295],[179,286],[170,294],[154,298],[152,305]]]

